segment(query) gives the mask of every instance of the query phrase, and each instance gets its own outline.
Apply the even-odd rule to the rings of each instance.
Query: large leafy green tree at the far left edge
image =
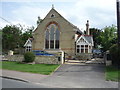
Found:
[[[6,25],[2,29],[2,49],[3,51],[14,50],[21,41],[22,31],[15,25]]]

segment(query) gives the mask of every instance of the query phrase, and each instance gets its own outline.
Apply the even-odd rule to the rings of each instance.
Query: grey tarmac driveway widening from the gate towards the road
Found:
[[[59,88],[118,88],[117,82],[105,81],[104,65],[64,64],[40,83]]]

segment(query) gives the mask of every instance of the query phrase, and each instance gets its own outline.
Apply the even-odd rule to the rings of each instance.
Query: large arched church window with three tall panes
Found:
[[[47,27],[45,36],[45,49],[59,49],[60,31],[56,24]]]

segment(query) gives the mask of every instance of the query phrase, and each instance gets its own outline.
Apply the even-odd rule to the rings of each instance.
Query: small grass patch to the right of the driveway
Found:
[[[120,81],[120,70],[113,66],[106,67],[106,80]]]

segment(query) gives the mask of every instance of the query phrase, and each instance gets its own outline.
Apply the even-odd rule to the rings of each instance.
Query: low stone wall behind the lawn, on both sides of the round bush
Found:
[[[21,62],[24,60],[23,55],[6,55],[3,60],[8,61],[18,61]],[[56,56],[36,56],[35,63],[37,64],[61,64],[61,61],[58,60]]]

